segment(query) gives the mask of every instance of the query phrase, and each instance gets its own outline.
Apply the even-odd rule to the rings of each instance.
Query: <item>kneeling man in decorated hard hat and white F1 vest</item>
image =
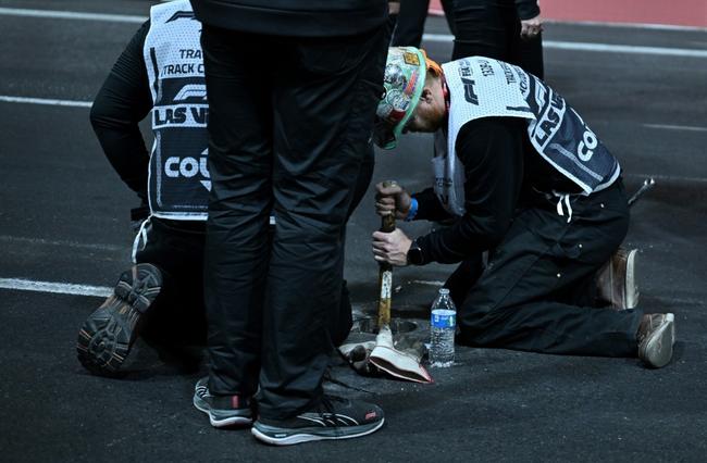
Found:
[[[503,61],[439,66],[412,47],[389,49],[385,87],[376,143],[434,133],[435,182],[413,195],[377,185],[376,212],[445,226],[414,239],[376,232],[374,258],[459,264],[445,284],[458,342],[670,362],[674,315],[643,313],[635,250],[619,249],[629,226],[619,162],[557,91]],[[607,271],[620,278],[597,289]]]

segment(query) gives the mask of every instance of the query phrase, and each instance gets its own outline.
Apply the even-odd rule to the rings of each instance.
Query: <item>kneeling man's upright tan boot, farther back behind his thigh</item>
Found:
[[[637,249],[619,248],[609,262],[597,272],[597,297],[613,310],[638,305],[638,287],[635,278]]]

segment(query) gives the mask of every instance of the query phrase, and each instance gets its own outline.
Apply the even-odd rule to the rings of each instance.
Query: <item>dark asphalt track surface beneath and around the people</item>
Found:
[[[146,15],[148,1],[0,0],[29,8]],[[0,14],[0,96],[90,101],[135,23]],[[427,33],[447,34],[439,18]],[[546,40],[707,49],[704,30],[555,24]],[[426,43],[438,60],[448,41]],[[633,208],[627,245],[641,249],[642,306],[675,313],[679,342],[659,371],[635,359],[458,349],[434,385],[338,379],[386,412],[379,433],[272,448],[248,430],[216,430],[191,406],[194,384],[138,346],[128,376],[94,377],[75,358],[77,329],[100,298],[16,289],[29,281],[114,284],[128,265],[135,199],[103,159],[86,108],[0,101],[0,459],[80,461],[705,461],[707,454],[707,58],[548,47],[547,80],[619,157]],[[149,136],[149,134],[148,134]],[[430,178],[429,136],[379,152],[374,182],[410,189]],[[355,305],[375,304],[369,192],[349,223]],[[404,225],[410,234],[427,226]],[[426,316],[451,267],[395,272],[394,316]],[[49,287],[45,287],[46,289]],[[51,289],[51,288],[49,288]],[[84,288],[85,289],[85,288]],[[90,288],[89,288],[90,289]],[[90,290],[88,292],[91,292]],[[424,324],[424,322],[422,322]],[[335,386],[337,390],[340,387]]]

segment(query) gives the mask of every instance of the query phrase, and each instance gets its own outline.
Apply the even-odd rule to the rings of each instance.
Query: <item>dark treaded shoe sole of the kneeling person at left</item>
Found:
[[[106,299],[78,331],[76,354],[89,372],[116,376],[137,339],[138,322],[162,288],[162,274],[151,264],[123,272]]]

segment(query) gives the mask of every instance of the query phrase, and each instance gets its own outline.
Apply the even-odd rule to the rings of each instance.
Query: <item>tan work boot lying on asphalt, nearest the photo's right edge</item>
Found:
[[[638,359],[646,365],[660,368],[670,363],[675,343],[675,315],[652,313],[643,315],[638,325]]]

